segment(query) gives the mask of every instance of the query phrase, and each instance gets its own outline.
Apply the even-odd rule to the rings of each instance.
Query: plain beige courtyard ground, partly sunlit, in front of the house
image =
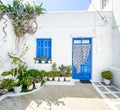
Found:
[[[0,110],[112,110],[93,85],[75,82],[74,86],[45,86],[28,95],[3,99]]]

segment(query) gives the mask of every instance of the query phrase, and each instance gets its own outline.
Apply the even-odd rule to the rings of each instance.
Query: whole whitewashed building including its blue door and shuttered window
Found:
[[[73,79],[101,81],[101,71],[112,66],[120,68],[119,25],[115,24],[114,16],[117,9],[113,11],[114,5],[111,0],[108,2],[110,8],[106,4],[106,7],[108,6],[106,11],[105,7],[101,8],[101,2],[96,4],[94,1],[96,0],[93,0],[96,9],[90,5],[89,10],[85,12],[47,12],[37,17],[37,32],[34,35],[25,35],[29,51],[23,59],[29,69],[49,71],[52,63],[56,62],[58,66],[61,64],[72,65]],[[4,20],[0,21],[2,24],[0,28],[4,25],[3,22]],[[6,40],[3,40],[4,33],[0,30],[0,73],[10,69],[7,53],[15,51],[13,43],[15,33],[9,19],[7,25]],[[79,44],[83,44],[84,48],[80,47],[83,50],[77,48],[76,45]],[[88,47],[84,45],[88,45]],[[82,63],[75,57],[78,52],[75,48],[83,51],[83,54],[86,53],[85,56],[81,54],[84,59],[77,56]],[[50,57],[52,63],[35,64],[33,58],[41,56]],[[76,60],[78,62],[75,62]]]

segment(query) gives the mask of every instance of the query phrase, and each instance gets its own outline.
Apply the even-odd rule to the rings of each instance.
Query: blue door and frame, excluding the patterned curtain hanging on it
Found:
[[[84,64],[80,65],[80,73],[77,73],[73,65],[73,45],[90,44],[89,55]],[[80,80],[90,80],[92,75],[92,38],[73,38],[72,39],[72,78]]]

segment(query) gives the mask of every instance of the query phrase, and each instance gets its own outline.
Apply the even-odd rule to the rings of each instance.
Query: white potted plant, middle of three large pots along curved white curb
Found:
[[[24,84],[27,86],[28,90],[33,89],[33,81],[34,81],[34,77],[33,76],[27,76]]]

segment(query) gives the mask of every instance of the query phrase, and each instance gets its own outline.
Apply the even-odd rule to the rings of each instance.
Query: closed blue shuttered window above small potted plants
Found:
[[[40,58],[42,56],[47,59],[52,59],[52,40],[48,38],[38,38],[36,39],[36,57]]]

